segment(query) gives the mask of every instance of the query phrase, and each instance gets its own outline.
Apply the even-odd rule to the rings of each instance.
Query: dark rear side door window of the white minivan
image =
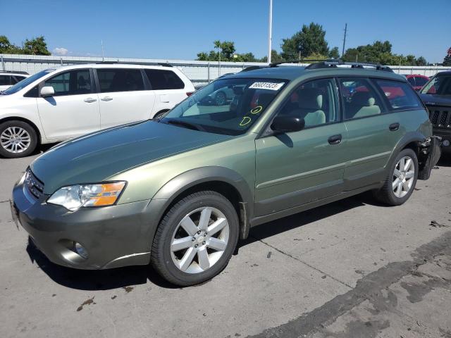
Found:
[[[141,70],[128,68],[97,68],[100,92],[135,92],[144,90]]]

